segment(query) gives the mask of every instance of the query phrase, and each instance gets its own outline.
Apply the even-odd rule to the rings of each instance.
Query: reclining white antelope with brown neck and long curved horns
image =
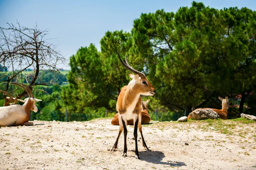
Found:
[[[24,99],[25,103],[23,105],[0,107],[0,126],[33,125],[33,122],[28,122],[30,111],[37,112],[38,108],[36,107],[35,102],[42,100],[35,99],[30,88],[22,83],[10,82],[9,84],[22,87],[29,95],[29,98]]]

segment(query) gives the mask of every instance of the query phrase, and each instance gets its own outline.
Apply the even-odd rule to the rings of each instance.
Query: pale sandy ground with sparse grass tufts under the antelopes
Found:
[[[256,170],[256,123],[223,122],[232,129],[229,134],[207,122],[143,125],[151,151],[144,150],[138,133],[138,160],[133,126],[128,126],[128,156],[122,157],[123,133],[118,150],[109,151],[119,131],[111,119],[33,122],[0,128],[0,170]]]

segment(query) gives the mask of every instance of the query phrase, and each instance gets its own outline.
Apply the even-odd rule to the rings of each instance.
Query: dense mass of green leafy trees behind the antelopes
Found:
[[[156,88],[148,104],[152,119],[155,111],[164,121],[194,108],[221,109],[218,96],[229,97],[229,118],[239,113],[255,115],[255,38],[256,11],[248,8],[218,10],[193,2],[176,13],[141,14],[131,33],[107,31],[100,41],[101,51],[90,44],[70,57],[69,84],[44,96],[44,102],[51,102],[48,108],[38,103],[40,119],[50,120],[50,108],[61,112],[61,120],[66,108],[69,113],[85,113],[86,120],[93,118],[88,115],[104,116],[105,109],[115,111],[117,96],[130,81],[117,51],[123,59],[127,54],[131,66],[145,73]],[[65,79],[57,77],[41,74],[47,82],[54,78],[61,85]]]

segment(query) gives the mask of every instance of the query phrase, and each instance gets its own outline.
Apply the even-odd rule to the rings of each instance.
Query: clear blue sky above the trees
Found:
[[[256,0],[201,0],[212,8],[247,7],[256,11]],[[106,31],[131,31],[133,21],[141,13],[164,9],[176,12],[191,6],[192,0],[0,0],[0,26],[20,23],[22,26],[50,29],[49,38],[58,44],[67,58],[81,46],[90,43],[100,50],[99,41]],[[69,66],[59,65],[69,69]]]

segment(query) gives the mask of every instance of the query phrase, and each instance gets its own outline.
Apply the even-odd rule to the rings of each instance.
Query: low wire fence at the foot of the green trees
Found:
[[[55,121],[61,121],[61,122],[89,121],[91,119],[103,118],[103,117],[113,118],[115,114],[116,114],[116,111],[108,111],[108,110],[106,110],[105,113],[68,113],[67,111],[65,113],[60,111],[46,111],[44,113],[31,112],[30,120],[31,121],[32,120],[46,120],[46,121],[55,120]],[[183,115],[184,113],[178,113],[178,112],[149,113],[151,120],[160,121],[160,122],[175,121]]]

